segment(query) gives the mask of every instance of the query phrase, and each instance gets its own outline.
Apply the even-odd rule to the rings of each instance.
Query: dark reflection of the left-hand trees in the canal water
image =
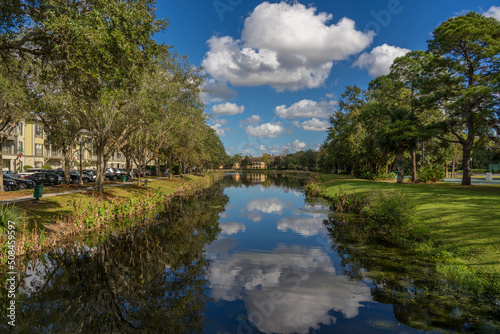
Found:
[[[205,247],[227,202],[219,184],[95,247],[47,254],[18,289],[14,331],[201,332],[209,300]]]

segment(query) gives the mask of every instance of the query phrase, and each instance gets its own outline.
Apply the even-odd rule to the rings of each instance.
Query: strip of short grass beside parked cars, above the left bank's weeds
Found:
[[[149,179],[148,187],[138,187],[137,185],[124,185],[120,187],[108,187],[105,188],[104,195],[97,192],[86,191],[76,194],[67,194],[61,196],[46,197],[40,199],[39,201],[31,202],[21,202],[17,203],[16,206],[21,208],[26,212],[26,219],[30,224],[50,224],[58,216],[66,216],[74,211],[74,206],[76,205],[86,205],[90,202],[92,197],[98,197],[103,201],[116,201],[130,198],[138,198],[145,195],[147,192],[153,189],[161,189],[164,194],[174,193],[177,189],[183,185],[189,183],[190,180],[197,180],[198,176],[185,175],[184,179],[174,178],[174,179],[161,179],[153,180]],[[57,187],[49,187],[47,189],[55,189]],[[61,191],[68,189],[61,189]],[[30,190],[30,193],[33,189]],[[45,193],[45,189],[44,189]]]

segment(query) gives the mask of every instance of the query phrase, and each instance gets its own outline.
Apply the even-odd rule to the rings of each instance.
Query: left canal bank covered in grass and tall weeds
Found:
[[[104,235],[136,225],[144,217],[161,210],[173,198],[189,197],[222,179],[223,173],[182,178],[149,180],[148,187],[118,184],[105,188],[104,194],[83,190],[43,197],[39,201],[11,204],[25,212],[25,222],[16,229],[17,257],[38,256],[73,238],[90,234]],[[0,247],[7,247],[7,236],[0,237]],[[0,254],[0,275],[5,277],[7,253]]]

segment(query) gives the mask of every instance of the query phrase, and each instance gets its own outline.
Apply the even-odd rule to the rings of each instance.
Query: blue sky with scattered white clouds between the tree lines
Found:
[[[346,86],[426,50],[448,18],[500,20],[498,0],[161,1],[155,36],[207,74],[209,124],[230,155],[317,150]],[[285,151],[288,150],[288,151]]]

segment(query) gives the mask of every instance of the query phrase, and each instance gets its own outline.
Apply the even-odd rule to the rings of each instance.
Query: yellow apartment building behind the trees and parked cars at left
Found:
[[[42,122],[19,122],[7,138],[2,154],[3,170],[22,171],[24,166],[42,168],[43,165],[56,169],[64,165],[61,148],[47,140]],[[97,155],[89,144],[74,145],[72,157],[72,167],[79,166],[82,160],[85,168],[96,168]],[[108,162],[108,167],[124,168],[125,165],[126,159],[121,153],[115,153]]]

